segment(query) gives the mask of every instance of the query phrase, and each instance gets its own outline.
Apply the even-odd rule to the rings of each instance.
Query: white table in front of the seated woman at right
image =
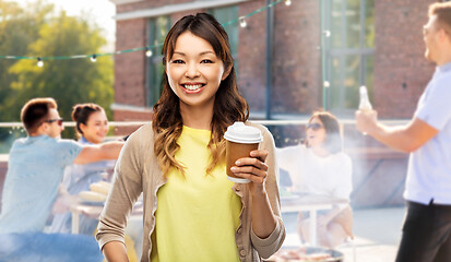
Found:
[[[289,196],[281,196],[281,211],[283,213],[308,211],[310,214],[310,245],[318,246],[317,241],[317,211],[332,210],[336,204],[346,204],[346,199],[331,198],[328,195],[294,193]]]

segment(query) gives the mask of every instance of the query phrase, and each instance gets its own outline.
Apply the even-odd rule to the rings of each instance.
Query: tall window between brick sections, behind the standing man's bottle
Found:
[[[324,1],[322,20],[331,32],[324,41],[327,109],[347,115],[358,107],[360,85],[372,94],[375,0]]]

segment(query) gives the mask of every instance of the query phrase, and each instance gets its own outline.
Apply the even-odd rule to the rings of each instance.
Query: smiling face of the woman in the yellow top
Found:
[[[213,109],[216,91],[228,72],[210,43],[185,32],[177,38],[166,74],[180,107]]]

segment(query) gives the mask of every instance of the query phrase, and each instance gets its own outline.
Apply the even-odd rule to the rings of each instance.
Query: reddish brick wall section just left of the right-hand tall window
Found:
[[[319,2],[293,1],[275,7],[271,110],[309,114],[320,104]]]

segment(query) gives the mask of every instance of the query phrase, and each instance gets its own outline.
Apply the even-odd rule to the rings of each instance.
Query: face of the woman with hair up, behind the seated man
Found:
[[[94,144],[104,142],[108,128],[108,119],[103,110],[91,114],[86,124],[80,124],[83,138]]]

